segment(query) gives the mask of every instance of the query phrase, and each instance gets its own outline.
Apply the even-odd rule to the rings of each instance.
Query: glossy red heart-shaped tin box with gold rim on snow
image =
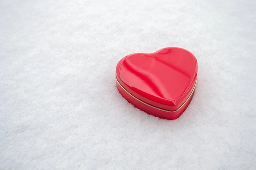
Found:
[[[193,97],[198,77],[195,56],[177,47],[123,57],[116,65],[119,93],[136,108],[162,119],[177,119]]]

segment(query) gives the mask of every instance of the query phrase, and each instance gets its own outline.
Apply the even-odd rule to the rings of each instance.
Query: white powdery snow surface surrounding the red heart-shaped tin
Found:
[[[122,57],[177,46],[175,121],[116,90]],[[0,0],[0,170],[256,170],[255,0]]]

